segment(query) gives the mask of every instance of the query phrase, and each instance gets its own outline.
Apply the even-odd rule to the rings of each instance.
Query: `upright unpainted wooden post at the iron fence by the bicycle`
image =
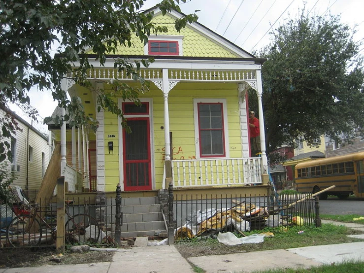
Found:
[[[65,253],[65,176],[57,179],[57,253]]]

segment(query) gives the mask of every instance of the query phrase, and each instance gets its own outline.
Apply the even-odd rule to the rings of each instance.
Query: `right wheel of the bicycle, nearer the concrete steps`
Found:
[[[67,243],[98,242],[100,226],[94,217],[88,214],[76,214],[68,219],[65,226]]]

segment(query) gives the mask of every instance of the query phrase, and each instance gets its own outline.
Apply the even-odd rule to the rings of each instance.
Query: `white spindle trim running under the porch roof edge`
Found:
[[[76,71],[73,71],[70,77],[76,76]],[[146,80],[162,80],[163,73],[161,69],[146,68],[140,69],[139,76]],[[118,79],[118,80],[134,80],[132,75],[128,75],[124,71],[118,71],[116,68],[94,68],[87,72],[88,78],[95,79]],[[169,80],[180,81],[244,81],[255,80],[255,70],[181,70],[168,69]]]

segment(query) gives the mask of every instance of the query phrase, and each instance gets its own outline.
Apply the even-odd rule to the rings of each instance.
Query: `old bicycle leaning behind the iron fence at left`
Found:
[[[65,201],[66,205],[71,205],[73,201]],[[67,208],[68,206],[66,206]],[[86,242],[86,241],[99,241],[100,226],[99,223],[87,213],[87,206],[85,206],[85,213],[78,213],[70,215],[65,208],[67,221],[65,225],[65,241],[66,243],[73,242]],[[49,238],[54,241],[57,238],[57,227],[53,228],[45,217],[40,215],[38,206],[30,208],[29,214],[21,214],[15,216],[6,230],[6,238],[11,246],[16,247],[20,245],[35,246],[39,245],[42,240],[42,226],[41,223],[50,231],[51,236],[48,237],[48,232],[45,233],[45,241]],[[54,225],[53,225],[54,226]]]

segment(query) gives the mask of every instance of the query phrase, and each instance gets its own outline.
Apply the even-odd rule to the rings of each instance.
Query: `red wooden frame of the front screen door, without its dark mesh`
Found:
[[[132,120],[146,120],[147,121],[147,155],[146,160],[128,160],[126,161],[126,131],[123,129],[123,169],[124,169],[124,191],[143,191],[152,189],[152,164],[151,164],[151,150],[150,150],[150,119],[149,117],[128,117],[128,121]],[[127,183],[127,163],[148,163],[148,179],[149,184],[145,186],[128,186]]]

